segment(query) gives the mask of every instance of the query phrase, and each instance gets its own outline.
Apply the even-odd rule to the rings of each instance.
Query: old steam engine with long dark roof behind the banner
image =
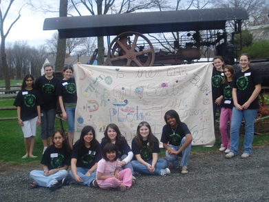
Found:
[[[45,19],[43,30],[58,30],[60,38],[117,36],[111,43],[108,37],[104,65],[139,67],[191,63],[200,59],[202,48],[215,48],[215,54],[222,55],[225,63],[234,65],[237,70],[234,37],[235,34],[241,35],[241,21],[244,19],[248,19],[244,8],[175,10],[49,18]],[[227,21],[234,26],[229,40]],[[160,32],[180,32],[180,39],[173,41],[172,51],[162,50],[160,44],[154,43],[153,46],[144,35]],[[94,57],[96,54],[97,51]],[[253,66],[268,78],[268,59],[253,63]],[[260,94],[261,108],[255,123],[257,133],[269,132],[268,92],[265,88],[268,87],[263,87]]]

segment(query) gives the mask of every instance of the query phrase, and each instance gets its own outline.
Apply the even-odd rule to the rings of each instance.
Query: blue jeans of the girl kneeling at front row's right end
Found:
[[[178,146],[169,145],[169,147],[172,148],[173,150],[179,150],[182,147],[185,140],[186,140],[186,137],[184,137],[182,139],[180,145],[178,145]],[[168,154],[168,151],[166,150],[165,156],[166,156],[167,161],[172,162],[173,168],[176,168],[177,166],[179,166],[179,161],[177,159],[177,156],[182,156],[180,166],[187,166],[188,161],[189,161],[189,154],[190,153],[191,153],[191,143],[182,152],[180,152],[179,154],[174,155],[174,156],[170,156]]]

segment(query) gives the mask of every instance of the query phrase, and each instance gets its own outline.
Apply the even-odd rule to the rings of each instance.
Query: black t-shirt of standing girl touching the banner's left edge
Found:
[[[57,85],[57,95],[63,97],[64,103],[76,103],[76,83],[73,78],[68,80],[61,80]]]

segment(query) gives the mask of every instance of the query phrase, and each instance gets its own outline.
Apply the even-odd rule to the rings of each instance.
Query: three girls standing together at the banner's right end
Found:
[[[233,158],[238,153],[239,129],[244,117],[245,139],[241,158],[246,159],[251,154],[254,138],[254,122],[259,109],[259,92],[261,77],[259,72],[250,68],[250,57],[241,54],[239,64],[241,70],[235,74],[231,65],[224,65],[222,57],[213,59],[213,112],[219,110],[219,130],[222,135],[222,145],[219,151],[226,153],[226,158]],[[228,128],[230,120],[230,128]],[[229,136],[230,134],[230,136]]]

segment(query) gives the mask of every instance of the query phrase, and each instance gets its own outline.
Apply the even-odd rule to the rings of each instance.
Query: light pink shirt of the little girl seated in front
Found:
[[[118,168],[118,159],[117,161],[105,161],[101,159],[97,165],[97,172],[103,173],[103,175],[114,175],[116,168]],[[101,183],[103,180],[98,180],[96,176],[97,183]]]

